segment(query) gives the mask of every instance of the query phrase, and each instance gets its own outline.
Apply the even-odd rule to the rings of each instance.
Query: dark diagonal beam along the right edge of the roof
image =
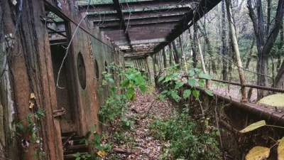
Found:
[[[187,12],[182,20],[180,20],[179,25],[175,26],[175,30],[168,34],[168,36],[166,37],[167,42],[160,43],[160,45],[155,48],[155,53],[167,46],[168,43],[174,41],[175,38],[178,38],[178,36],[180,36],[183,31],[187,30],[187,28],[198,21],[204,14],[213,9],[213,7],[219,4],[220,1],[221,0],[201,0],[200,3],[196,5],[196,9],[193,8],[191,11]],[[190,23],[190,21],[192,21],[193,19],[195,22]]]

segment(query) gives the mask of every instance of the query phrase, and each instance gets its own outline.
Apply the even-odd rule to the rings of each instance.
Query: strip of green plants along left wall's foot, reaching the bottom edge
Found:
[[[138,70],[133,68],[123,70],[111,64],[108,70],[111,70],[111,73],[103,73],[104,80],[102,85],[108,88],[109,96],[99,110],[99,120],[103,125],[120,127],[120,130],[110,133],[112,134],[110,139],[116,143],[122,143],[129,140],[126,139],[126,135],[122,131],[130,129],[131,125],[133,125],[131,119],[123,117],[127,110],[127,103],[136,98],[137,89],[140,89],[142,92],[146,90],[146,80]],[[102,139],[104,138],[96,132],[96,126],[94,126],[82,140],[84,144],[91,146],[93,151],[84,154],[74,154],[75,159],[97,160],[107,156],[107,153],[112,149],[111,144],[113,142],[107,136],[105,138],[108,139],[107,142],[102,145]]]

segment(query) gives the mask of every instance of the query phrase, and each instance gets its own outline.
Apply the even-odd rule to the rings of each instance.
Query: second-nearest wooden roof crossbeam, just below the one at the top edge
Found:
[[[132,18],[149,18],[149,17],[162,17],[162,16],[178,16],[184,15],[190,11],[189,7],[175,8],[175,9],[153,9],[151,11],[124,11],[124,19],[128,20]],[[129,16],[130,15],[130,16]],[[119,20],[116,13],[110,14],[88,14],[87,18],[89,21],[96,21],[97,23],[103,23],[104,21]]]

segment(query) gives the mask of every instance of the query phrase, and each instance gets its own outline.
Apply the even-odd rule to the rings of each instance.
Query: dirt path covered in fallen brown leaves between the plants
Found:
[[[152,160],[158,159],[160,150],[167,142],[160,142],[151,137],[149,124],[153,119],[166,118],[173,114],[173,107],[170,102],[160,102],[155,100],[154,95],[137,94],[136,100],[129,103],[129,111],[126,112],[126,117],[136,117],[135,124],[131,129],[124,132],[128,142],[123,144],[114,144],[114,148],[121,149],[128,153],[118,154],[113,153],[116,159],[137,159],[137,160]],[[151,105],[153,105],[151,107]],[[151,110],[149,110],[151,108]],[[145,115],[147,116],[145,117]],[[145,117],[145,118],[144,118]]]

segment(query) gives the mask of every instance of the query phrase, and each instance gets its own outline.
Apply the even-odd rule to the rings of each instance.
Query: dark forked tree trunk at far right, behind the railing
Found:
[[[271,52],[271,48],[273,47],[273,44],[275,43],[280,28],[283,25],[284,0],[278,0],[278,7],[274,18],[275,19],[274,26],[271,27],[271,23],[268,23],[266,28],[271,28],[271,29],[269,29],[270,31],[266,33],[264,32],[265,23],[263,21],[263,10],[262,10],[263,7],[261,1],[256,1],[256,14],[253,11],[254,6],[252,5],[251,0],[248,0],[247,3],[249,9],[249,16],[251,17],[251,21],[253,22],[253,30],[256,35],[256,45],[258,50],[258,62],[256,67],[258,72],[257,84],[266,86],[267,63],[268,63],[269,53]],[[265,95],[266,92],[263,92],[263,90],[258,90],[258,99],[264,97]]]

